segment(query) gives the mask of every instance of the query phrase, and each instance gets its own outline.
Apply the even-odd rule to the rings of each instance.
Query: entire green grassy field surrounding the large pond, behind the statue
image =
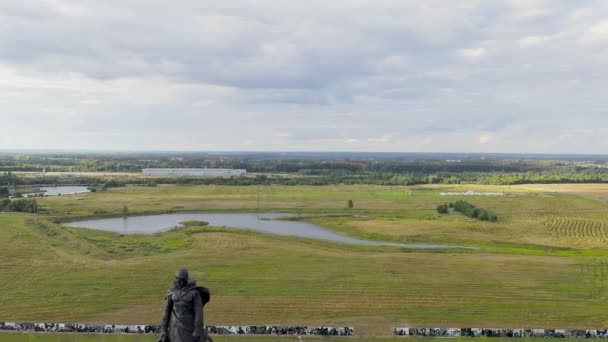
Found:
[[[504,191],[466,199],[499,221],[436,213],[459,199],[439,192],[466,190]],[[394,326],[600,328],[608,206],[587,197],[489,186],[177,185],[48,197],[39,199],[46,214],[0,213],[0,321],[157,323],[173,272],[187,267],[212,290],[205,320],[214,325],[354,326],[358,336]],[[58,223],[120,216],[124,206],[305,213],[356,237],[481,249],[351,246],[220,227],[120,236]]]

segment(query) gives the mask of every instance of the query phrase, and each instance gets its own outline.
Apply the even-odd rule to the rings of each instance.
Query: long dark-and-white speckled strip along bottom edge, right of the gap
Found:
[[[395,328],[394,333],[427,337],[608,338],[608,330],[590,329]]]

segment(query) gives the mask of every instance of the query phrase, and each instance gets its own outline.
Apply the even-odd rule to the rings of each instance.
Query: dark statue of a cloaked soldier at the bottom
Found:
[[[188,270],[177,270],[165,298],[159,342],[213,341],[203,325],[203,305],[209,298],[209,290],[197,286]]]

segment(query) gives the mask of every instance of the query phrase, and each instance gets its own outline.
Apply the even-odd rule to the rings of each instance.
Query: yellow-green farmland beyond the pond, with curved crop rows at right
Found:
[[[499,221],[482,222],[459,214],[439,215],[437,204],[462,199],[441,191],[486,189],[502,197],[467,198],[495,212]],[[608,189],[608,187],[606,188]],[[608,192],[608,190],[607,190]],[[352,210],[347,201],[354,202]],[[608,247],[608,206],[600,201],[518,187],[483,186],[158,186],[115,188],[94,195],[47,198],[51,216],[90,217],[172,211],[278,211],[318,215],[308,221],[375,240],[479,246],[537,245],[546,248]],[[47,204],[48,203],[48,204]],[[328,217],[324,214],[356,214]]]

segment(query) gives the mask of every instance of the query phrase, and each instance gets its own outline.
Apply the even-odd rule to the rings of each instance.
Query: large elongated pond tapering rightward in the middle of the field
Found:
[[[330,230],[308,222],[277,220],[277,218],[285,216],[293,215],[282,213],[177,213],[76,221],[64,223],[64,225],[76,228],[112,231],[120,234],[153,234],[180,226],[180,222],[196,220],[209,222],[210,226],[250,229],[276,235],[297,236],[302,238],[321,239],[325,241],[357,245],[397,246],[409,248],[474,249],[473,247],[462,246],[405,244],[361,240],[334,233]]]

